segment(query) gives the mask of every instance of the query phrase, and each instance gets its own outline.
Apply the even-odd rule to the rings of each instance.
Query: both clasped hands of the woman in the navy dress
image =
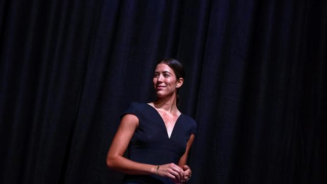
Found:
[[[189,166],[184,165],[180,168],[174,163],[161,165],[158,170],[159,176],[169,177],[174,183],[184,183],[191,177],[191,169]]]

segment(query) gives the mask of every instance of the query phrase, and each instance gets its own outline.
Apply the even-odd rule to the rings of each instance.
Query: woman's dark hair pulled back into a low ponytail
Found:
[[[159,62],[156,64],[156,66],[158,64],[167,64],[170,68],[172,68],[172,70],[175,73],[176,76],[176,80],[178,80],[179,78],[183,78],[185,77],[185,71],[183,68],[183,65],[177,61],[176,59],[172,59],[172,58],[165,58],[165,59],[160,59]],[[177,88],[177,92],[176,92],[176,105],[179,104],[179,96],[178,96],[178,91],[179,88]]]

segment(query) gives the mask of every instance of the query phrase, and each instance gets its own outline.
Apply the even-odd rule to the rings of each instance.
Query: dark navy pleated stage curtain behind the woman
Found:
[[[120,183],[106,154],[160,58],[189,183],[325,183],[326,1],[0,1],[0,183]]]

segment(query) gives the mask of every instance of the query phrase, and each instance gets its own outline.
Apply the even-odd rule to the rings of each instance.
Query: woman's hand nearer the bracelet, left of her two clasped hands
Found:
[[[184,171],[174,163],[161,165],[158,169],[158,175],[169,177],[177,183],[181,183],[185,177]]]

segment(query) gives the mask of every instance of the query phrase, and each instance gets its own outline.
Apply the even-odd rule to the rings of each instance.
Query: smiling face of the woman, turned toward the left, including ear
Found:
[[[172,95],[183,83],[183,79],[176,79],[172,68],[160,63],[155,67],[153,85],[158,97]]]

